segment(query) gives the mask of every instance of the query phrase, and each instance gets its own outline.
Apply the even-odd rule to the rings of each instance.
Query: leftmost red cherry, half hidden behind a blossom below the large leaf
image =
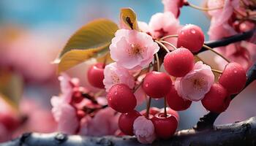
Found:
[[[104,79],[104,65],[102,63],[91,66],[87,73],[89,83],[96,88],[105,88],[103,84]]]

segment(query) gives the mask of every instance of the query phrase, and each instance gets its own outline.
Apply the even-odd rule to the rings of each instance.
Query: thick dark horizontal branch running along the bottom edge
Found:
[[[256,117],[242,122],[215,126],[204,131],[187,129],[177,131],[167,140],[157,140],[152,145],[256,145]],[[1,146],[140,146],[135,137],[80,137],[66,134],[23,134]]]

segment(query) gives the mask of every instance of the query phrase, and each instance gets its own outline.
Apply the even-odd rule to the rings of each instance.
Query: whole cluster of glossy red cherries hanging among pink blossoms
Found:
[[[143,91],[154,99],[165,97],[170,107],[167,108],[167,114],[156,108],[151,108],[149,111],[148,119],[154,123],[159,138],[169,138],[174,134],[178,126],[178,113],[176,111],[187,110],[192,104],[192,101],[184,100],[178,95],[170,76],[184,77],[193,69],[195,63],[192,53],[197,53],[203,47],[203,42],[203,31],[198,26],[184,26],[178,34],[179,48],[165,55],[163,64],[168,74],[165,72],[148,72],[143,80]],[[102,83],[103,70],[102,64],[96,64],[89,69],[89,82],[94,87],[104,88]],[[225,111],[230,104],[230,94],[241,91],[245,82],[245,70],[239,64],[227,64],[219,77],[219,83],[214,83],[210,91],[206,93],[202,100],[203,106],[211,112]],[[108,105],[113,110],[122,113],[118,120],[121,131],[124,134],[133,135],[135,119],[141,115],[146,116],[145,111],[138,112],[135,110],[137,101],[133,91],[127,85],[116,84],[110,88],[107,99]]]

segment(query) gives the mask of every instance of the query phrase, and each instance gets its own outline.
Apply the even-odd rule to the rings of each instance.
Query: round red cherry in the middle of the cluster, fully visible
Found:
[[[154,99],[166,96],[171,86],[172,80],[165,72],[149,72],[143,81],[145,93]]]

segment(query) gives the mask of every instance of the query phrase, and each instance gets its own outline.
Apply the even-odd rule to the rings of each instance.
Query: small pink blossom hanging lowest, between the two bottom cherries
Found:
[[[138,141],[143,144],[151,144],[154,142],[154,139],[156,139],[152,121],[148,120],[144,116],[140,116],[135,119],[133,129]]]

